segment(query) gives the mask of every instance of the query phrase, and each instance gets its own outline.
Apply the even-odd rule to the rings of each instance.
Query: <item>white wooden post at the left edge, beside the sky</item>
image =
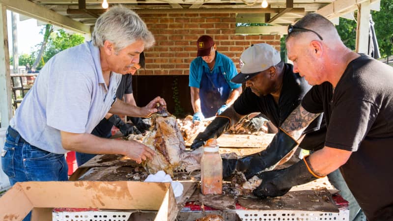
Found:
[[[0,117],[6,128],[12,118],[11,77],[9,70],[8,31],[6,7],[0,4]]]

